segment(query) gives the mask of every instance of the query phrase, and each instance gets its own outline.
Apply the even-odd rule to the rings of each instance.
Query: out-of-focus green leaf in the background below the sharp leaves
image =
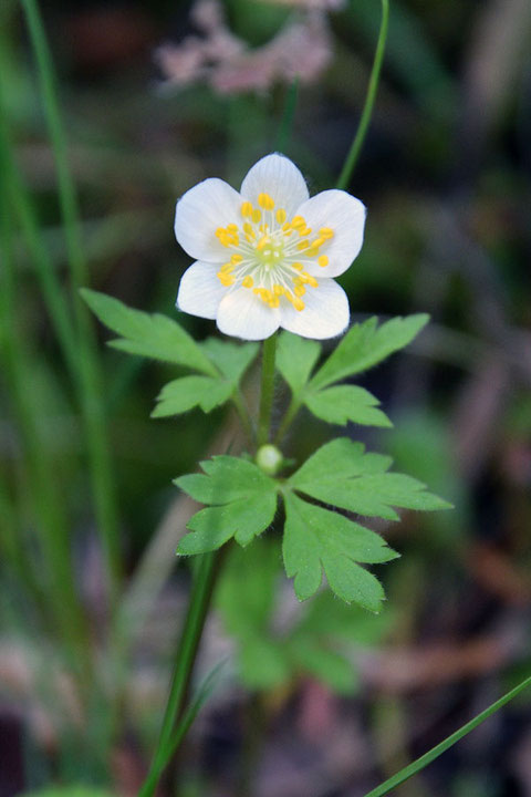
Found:
[[[357,685],[353,645],[374,646],[388,618],[347,607],[329,592],[301,604],[290,622],[279,623],[282,594],[277,539],[261,537],[250,549],[233,548],[217,590],[225,625],[237,640],[241,679],[252,690],[268,690],[311,674],[334,692],[352,694]]]

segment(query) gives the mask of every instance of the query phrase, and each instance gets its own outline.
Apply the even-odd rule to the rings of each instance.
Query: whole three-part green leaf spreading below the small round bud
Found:
[[[298,598],[313,596],[324,571],[339,598],[377,612],[383,589],[361,565],[386,562],[398,555],[379,535],[310,500],[391,520],[398,518],[393,506],[449,506],[420,482],[387,473],[389,466],[389,457],[366,454],[362,444],[346,437],[325,444],[285,482],[267,476],[247,459],[214,457],[201,463],[204,474],[176,479],[195,500],[209,505],[189,520],[191,534],[183,538],[178,552],[215,550],[231,537],[247,546],[271,525],[280,493],[285,506],[284,567],[294,577]]]

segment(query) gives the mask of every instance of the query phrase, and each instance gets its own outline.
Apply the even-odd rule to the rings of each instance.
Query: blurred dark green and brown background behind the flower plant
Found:
[[[331,187],[381,7],[46,0],[42,12],[59,172],[25,15],[0,6],[0,796],[52,783],[134,795],[190,578],[174,551],[194,507],[171,479],[225,451],[235,418],[150,421],[175,369],[106,348],[77,287],[176,317],[189,265],[176,198],[209,176],[238,186],[274,149],[295,76],[284,152],[312,193]],[[235,553],[198,677],[226,665],[160,794],[357,797],[529,674],[530,41],[529,0],[392,0],[350,185],[366,241],[340,281],[354,320],[427,311],[431,324],[361,382],[395,428],[347,432],[456,509],[378,527],[403,555],[378,570],[378,618],[326,594],[298,605],[274,534]],[[329,433],[302,416],[287,453]],[[530,728],[524,695],[397,794],[528,795]]]

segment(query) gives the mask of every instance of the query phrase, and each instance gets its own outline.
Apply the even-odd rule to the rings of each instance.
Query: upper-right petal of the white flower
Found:
[[[321,247],[321,253],[329,257],[329,265],[321,268],[316,258],[304,260],[304,268],[317,277],[339,277],[346,271],[360,253],[365,228],[365,205],[346,192],[321,192],[305,201],[298,210],[313,230],[309,240],[319,235],[322,227],[330,227],[334,237]]]

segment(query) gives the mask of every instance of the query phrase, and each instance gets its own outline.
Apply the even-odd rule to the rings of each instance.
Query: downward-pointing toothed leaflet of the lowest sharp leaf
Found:
[[[378,612],[384,591],[377,579],[356,563],[358,561],[387,561],[397,555],[385,541],[368,529],[371,537],[357,542],[361,536],[357,524],[336,513],[313,506],[287,493],[283,557],[287,575],[294,577],[295,594],[306,600],[321,586],[322,570],[335,594],[350,603],[355,601],[369,611]],[[356,550],[357,548],[357,550]]]

